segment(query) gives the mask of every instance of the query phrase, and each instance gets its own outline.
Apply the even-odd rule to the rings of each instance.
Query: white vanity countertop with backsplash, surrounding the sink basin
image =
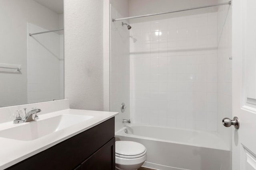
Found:
[[[80,123],[76,123],[75,125],[71,125],[70,127],[66,127],[65,129],[55,131],[54,133],[50,133],[48,135],[31,141],[21,141],[0,137],[0,169],[8,168],[22,160],[25,160],[26,158],[29,158],[30,156],[38,154],[43,150],[46,150],[62,141],[65,141],[66,139],[78,135],[79,133],[86,131],[118,114],[117,112],[70,109],[69,101],[67,99],[51,102],[42,102],[37,104],[4,107],[0,108],[0,118],[2,118],[0,123],[0,131],[30,123],[12,123],[12,113],[15,110],[23,109],[25,107],[28,109],[32,107],[42,109],[42,113],[38,114],[39,119],[37,121],[63,114],[87,115],[92,116],[92,118],[81,121]],[[18,133],[26,132],[20,131]]]

